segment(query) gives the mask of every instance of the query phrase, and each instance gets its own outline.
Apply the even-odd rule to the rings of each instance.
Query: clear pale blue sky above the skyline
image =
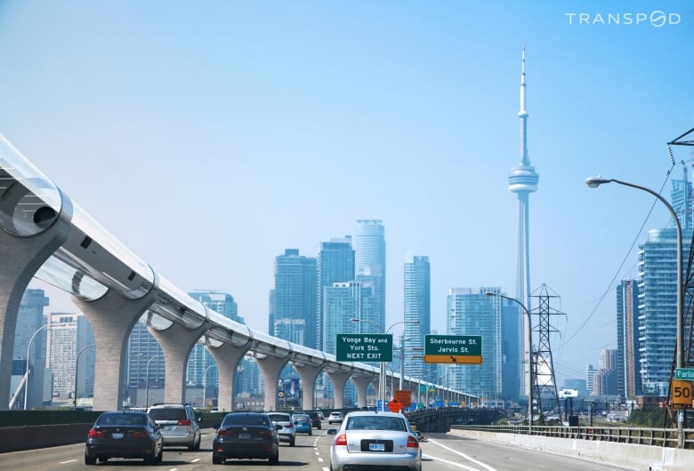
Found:
[[[383,220],[387,323],[413,251],[445,333],[450,287],[514,295],[525,47],[530,284],[563,313],[561,387],[617,347],[615,283],[644,221],[669,222],[585,179],[669,199],[692,173],[692,148],[673,167],[666,143],[694,128],[693,40],[686,0],[9,0],[0,133],[158,274],[230,292],[261,331],[277,255]]]

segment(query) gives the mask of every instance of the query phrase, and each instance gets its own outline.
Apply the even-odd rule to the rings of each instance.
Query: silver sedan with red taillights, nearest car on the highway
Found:
[[[398,467],[421,471],[422,450],[408,419],[399,413],[355,411],[344,418],[330,444],[330,471],[353,467]]]

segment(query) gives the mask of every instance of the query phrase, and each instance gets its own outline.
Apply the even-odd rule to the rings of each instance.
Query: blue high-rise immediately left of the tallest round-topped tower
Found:
[[[351,236],[347,235],[342,239],[332,238],[328,242],[320,243],[317,269],[316,346],[319,350],[326,350],[327,315],[323,300],[326,296],[325,291],[334,283],[348,283],[354,280],[354,249],[351,247]]]

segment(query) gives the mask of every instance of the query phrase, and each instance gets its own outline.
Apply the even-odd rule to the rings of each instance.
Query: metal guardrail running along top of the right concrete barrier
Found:
[[[451,428],[516,435],[540,435],[599,442],[633,443],[677,448],[676,428],[641,427],[561,427],[561,426],[480,426],[451,425]],[[684,429],[684,448],[694,450],[694,428]]]

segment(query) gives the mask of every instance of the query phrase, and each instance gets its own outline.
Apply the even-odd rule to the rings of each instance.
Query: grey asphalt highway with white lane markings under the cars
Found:
[[[16,451],[0,454],[0,469],[31,471],[73,471],[85,469],[148,469],[150,471],[198,471],[203,469],[253,469],[256,471],[327,471],[329,469],[329,445],[333,435],[327,435],[326,427],[313,430],[313,435],[297,435],[296,446],[280,444],[279,463],[270,466],[264,460],[229,460],[225,465],[212,464],[212,438],[214,430],[204,429],[199,451],[185,448],[165,448],[162,463],[145,466],[141,459],[109,459],[96,467],[85,466],[84,443],[46,448],[33,451]],[[572,459],[566,456],[540,453],[521,448],[473,440],[455,431],[448,434],[426,434],[427,442],[421,443],[424,453],[424,471],[607,471],[620,469],[600,463]]]

